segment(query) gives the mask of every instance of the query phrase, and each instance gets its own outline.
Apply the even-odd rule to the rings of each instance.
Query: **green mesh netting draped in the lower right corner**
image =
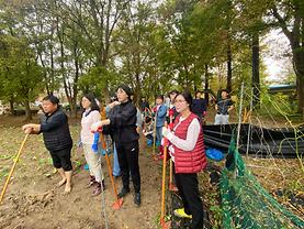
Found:
[[[232,140],[221,176],[223,228],[304,228],[247,170]]]

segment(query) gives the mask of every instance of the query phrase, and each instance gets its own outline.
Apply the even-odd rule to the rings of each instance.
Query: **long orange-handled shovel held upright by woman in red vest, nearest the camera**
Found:
[[[167,124],[166,124],[167,126]],[[168,139],[164,139],[164,159],[162,159],[162,181],[161,181],[161,211],[160,211],[160,226],[162,229],[169,229],[170,222],[165,221],[166,216],[166,165],[167,165],[167,150],[168,150]]]

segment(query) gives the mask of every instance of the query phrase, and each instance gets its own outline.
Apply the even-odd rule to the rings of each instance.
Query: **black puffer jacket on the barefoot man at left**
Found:
[[[60,109],[50,116],[45,115],[42,117],[41,132],[48,151],[59,151],[72,146],[68,117]]]

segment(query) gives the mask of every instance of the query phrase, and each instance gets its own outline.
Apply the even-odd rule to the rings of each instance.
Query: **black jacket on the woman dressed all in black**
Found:
[[[135,106],[127,101],[115,106],[110,115],[110,127],[113,131],[114,141],[120,143],[130,143],[137,141],[139,134],[136,131],[136,113]]]

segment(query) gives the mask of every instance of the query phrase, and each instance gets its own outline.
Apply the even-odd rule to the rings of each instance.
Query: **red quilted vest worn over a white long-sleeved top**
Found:
[[[198,116],[192,113],[183,120],[174,131],[174,135],[180,139],[187,139],[187,130],[193,119],[198,119]],[[179,123],[180,116],[174,120],[174,127]],[[207,164],[204,140],[203,140],[203,129],[201,127],[201,133],[199,135],[198,142],[192,151],[183,151],[176,145],[174,148],[174,164],[176,173],[198,173],[205,168]]]

